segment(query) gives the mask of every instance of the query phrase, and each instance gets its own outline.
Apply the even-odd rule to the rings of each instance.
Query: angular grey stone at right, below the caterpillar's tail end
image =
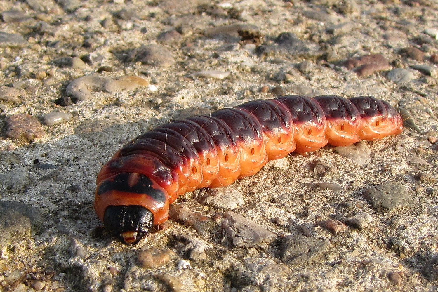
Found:
[[[376,209],[392,210],[397,207],[413,206],[414,201],[406,187],[398,182],[382,183],[365,191],[364,198]]]

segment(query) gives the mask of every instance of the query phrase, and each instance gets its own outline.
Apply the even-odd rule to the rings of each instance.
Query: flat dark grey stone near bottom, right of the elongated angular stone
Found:
[[[288,266],[306,265],[319,260],[329,242],[302,235],[283,237],[280,243],[280,259]]]

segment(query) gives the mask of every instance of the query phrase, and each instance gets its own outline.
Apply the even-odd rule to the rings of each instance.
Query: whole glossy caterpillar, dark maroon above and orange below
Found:
[[[134,138],[103,166],[95,211],[113,236],[136,244],[167,220],[169,204],[185,192],[229,185],[293,151],[402,130],[399,113],[371,96],[285,95],[171,120]]]

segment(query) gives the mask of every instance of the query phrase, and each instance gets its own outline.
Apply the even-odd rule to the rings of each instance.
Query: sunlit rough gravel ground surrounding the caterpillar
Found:
[[[0,2],[3,291],[436,291],[433,0]],[[93,209],[102,165],[176,117],[372,95],[403,133],[186,193],[136,246]]]

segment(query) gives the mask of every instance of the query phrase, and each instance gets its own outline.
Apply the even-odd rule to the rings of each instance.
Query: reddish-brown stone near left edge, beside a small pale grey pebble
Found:
[[[6,136],[20,142],[33,142],[45,134],[39,120],[27,113],[8,116],[5,122]]]

